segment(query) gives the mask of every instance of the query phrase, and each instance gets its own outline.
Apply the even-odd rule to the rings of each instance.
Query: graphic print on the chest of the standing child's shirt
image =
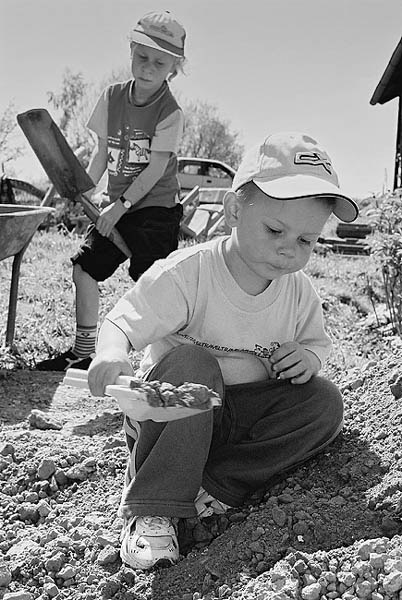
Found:
[[[108,172],[135,179],[149,164],[151,138],[141,129],[128,129],[127,125],[108,136]]]

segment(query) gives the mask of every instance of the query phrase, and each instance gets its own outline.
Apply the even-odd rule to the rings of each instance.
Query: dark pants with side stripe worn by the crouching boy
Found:
[[[222,409],[187,419],[133,423],[126,418],[130,461],[120,514],[193,517],[202,485],[239,506],[274,475],[307,460],[340,432],[338,388],[321,377],[224,386],[215,357],[183,345],[154,367],[149,380],[202,383],[224,396]]]

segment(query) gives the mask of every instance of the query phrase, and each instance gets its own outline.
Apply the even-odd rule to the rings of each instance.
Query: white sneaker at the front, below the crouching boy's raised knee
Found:
[[[133,517],[122,532],[120,557],[133,569],[169,566],[179,559],[179,544],[168,517]]]

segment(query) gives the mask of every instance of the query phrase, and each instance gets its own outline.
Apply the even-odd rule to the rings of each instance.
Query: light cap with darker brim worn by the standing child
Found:
[[[183,26],[167,10],[147,13],[129,35],[130,42],[156,48],[178,58],[184,57],[185,39]]]

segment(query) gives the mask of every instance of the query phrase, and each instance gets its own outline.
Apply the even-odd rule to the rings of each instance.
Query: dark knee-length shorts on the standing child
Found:
[[[134,281],[158,258],[177,249],[183,207],[150,206],[127,213],[116,224],[132,252],[129,274]],[[94,225],[87,229],[85,240],[71,262],[80,265],[95,281],[104,281],[127,257]]]

